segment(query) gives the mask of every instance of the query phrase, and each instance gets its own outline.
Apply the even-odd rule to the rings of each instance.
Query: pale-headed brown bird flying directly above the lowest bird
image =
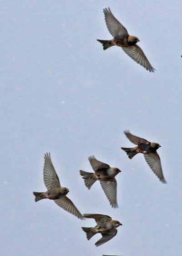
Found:
[[[109,165],[97,160],[95,156],[90,156],[88,160],[90,161],[91,167],[95,173],[80,170],[80,174],[84,179],[86,187],[90,189],[94,182],[100,181],[101,187],[111,206],[117,208],[117,182],[115,176],[121,171],[118,168],[110,167]]]

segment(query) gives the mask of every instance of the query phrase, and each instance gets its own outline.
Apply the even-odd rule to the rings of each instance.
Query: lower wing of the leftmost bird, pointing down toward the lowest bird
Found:
[[[61,197],[54,200],[54,202],[67,212],[74,214],[78,219],[84,219],[83,215],[76,208],[74,203],[68,197]]]

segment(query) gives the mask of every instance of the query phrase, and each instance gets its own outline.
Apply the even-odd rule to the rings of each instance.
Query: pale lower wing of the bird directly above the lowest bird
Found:
[[[118,208],[117,206],[117,182],[114,178],[111,181],[100,181],[101,187],[106,194],[107,199],[109,200],[113,208]]]

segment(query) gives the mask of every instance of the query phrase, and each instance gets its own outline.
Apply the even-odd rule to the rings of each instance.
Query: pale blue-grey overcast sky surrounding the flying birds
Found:
[[[181,256],[182,2],[0,1],[0,144],[3,256]],[[150,73],[111,39],[102,9],[110,7],[157,69]],[[142,154],[123,147],[131,133],[161,144],[167,184]],[[44,154],[81,213],[103,213],[123,226],[104,245],[86,240],[81,221],[42,200]],[[79,170],[88,156],[121,169],[118,209],[99,182],[87,190]]]

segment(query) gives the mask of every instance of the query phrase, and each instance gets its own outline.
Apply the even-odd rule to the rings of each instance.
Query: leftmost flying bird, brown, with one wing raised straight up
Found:
[[[46,192],[33,192],[35,195],[35,202],[45,198],[54,200],[57,205],[67,212],[74,214],[78,219],[84,219],[83,215],[78,211],[72,201],[66,197],[69,189],[61,187],[59,178],[51,161],[50,153],[46,153],[44,159],[44,183],[48,190]]]

